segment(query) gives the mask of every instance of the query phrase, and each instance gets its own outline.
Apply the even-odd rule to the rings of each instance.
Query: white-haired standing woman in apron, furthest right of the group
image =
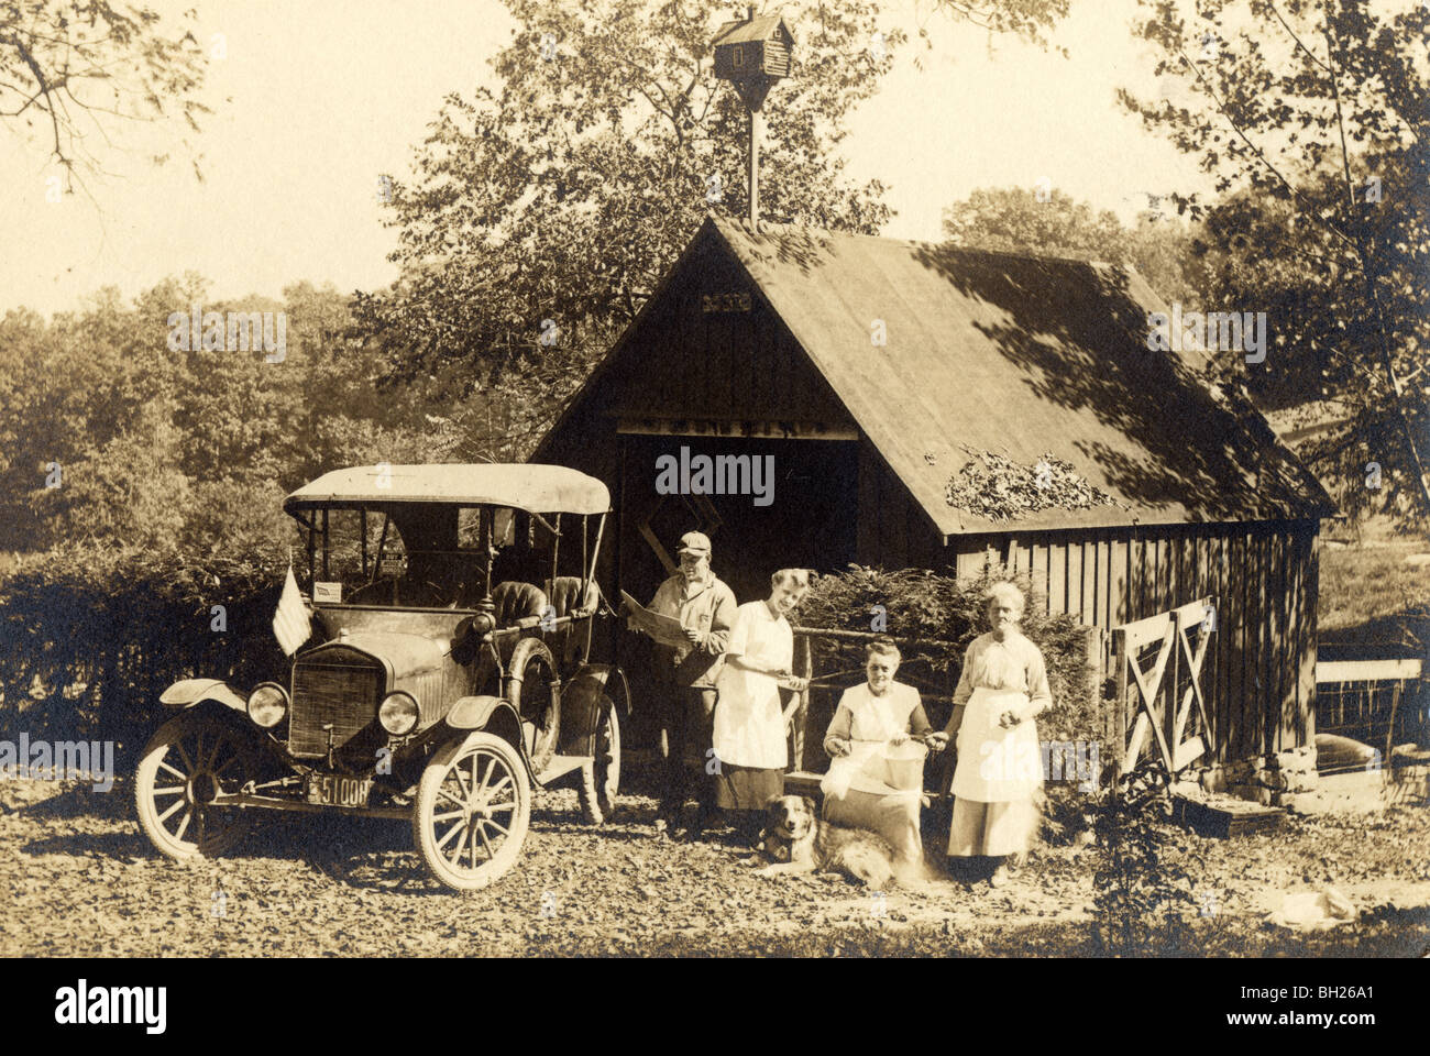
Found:
[[[1042,787],[1037,715],[1052,703],[1038,647],[1022,637],[1022,592],[1000,582],[985,595],[992,630],[974,638],[940,743],[958,737],[950,857],[997,860],[994,887],[1008,883],[1007,857],[1024,854],[1038,824]]]

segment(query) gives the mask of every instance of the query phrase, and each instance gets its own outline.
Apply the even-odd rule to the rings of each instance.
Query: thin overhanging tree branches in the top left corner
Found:
[[[199,132],[210,110],[197,99],[207,56],[193,20],[189,10],[170,26],[107,0],[0,0],[0,119],[36,130],[67,180],[96,167],[92,132],[107,143],[123,122],[174,114]]]

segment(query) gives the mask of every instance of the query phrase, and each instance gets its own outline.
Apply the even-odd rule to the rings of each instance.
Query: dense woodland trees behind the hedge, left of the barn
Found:
[[[0,549],[130,545],[194,558],[290,541],[283,494],[335,465],[442,461],[406,391],[350,342],[347,299],[299,283],[283,300],[207,302],[193,275],[124,306],[102,290],[46,322],[0,319]],[[263,351],[170,348],[169,318],[283,312]]]

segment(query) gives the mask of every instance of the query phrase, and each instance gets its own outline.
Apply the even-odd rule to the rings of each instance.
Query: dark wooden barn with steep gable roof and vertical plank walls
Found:
[[[1258,415],[1194,376],[1204,352],[1148,349],[1148,313],[1165,311],[1113,266],[711,216],[532,458],[611,487],[602,581],[642,600],[691,528],[739,601],[778,567],[964,575],[992,552],[1100,628],[1108,675],[1117,642],[1171,642],[1171,614],[1185,631],[1210,600],[1205,758],[1300,748],[1333,502]],[[971,451],[1052,455],[1117,505],[1014,522],[955,509],[945,489]],[[656,488],[662,465],[699,455],[748,456],[772,481]],[[741,491],[728,475],[715,491]],[[1190,660],[1168,645],[1154,673]],[[1164,753],[1183,704],[1151,723]]]

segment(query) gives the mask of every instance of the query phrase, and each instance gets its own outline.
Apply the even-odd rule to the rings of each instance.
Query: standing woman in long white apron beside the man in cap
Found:
[[[759,830],[765,804],[785,791],[789,748],[785,731],[798,707],[801,678],[786,617],[809,591],[809,572],[782,568],[769,577],[769,597],[735,610],[725,667],[715,688],[715,806],[734,811],[746,836]]]

